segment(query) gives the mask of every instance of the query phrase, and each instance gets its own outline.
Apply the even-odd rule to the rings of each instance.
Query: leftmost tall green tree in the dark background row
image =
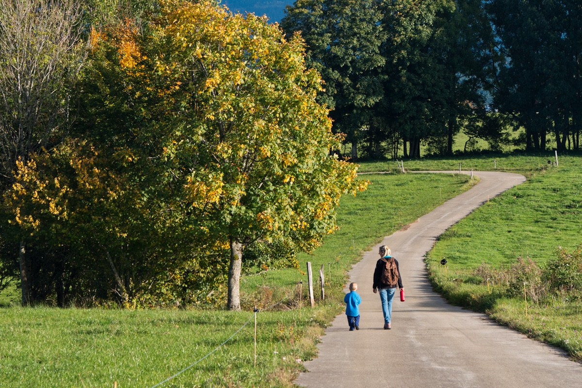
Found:
[[[281,21],[288,35],[301,31],[307,65],[325,81],[318,100],[332,109],[334,131],[347,134],[353,160],[361,130],[370,126],[372,107],[384,95],[381,20],[375,0],[297,0]]]

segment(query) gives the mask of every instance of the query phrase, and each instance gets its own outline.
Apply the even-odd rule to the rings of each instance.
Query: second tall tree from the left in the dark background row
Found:
[[[386,40],[384,99],[378,114],[403,140],[404,156],[420,156],[421,140],[434,133],[442,115],[435,114],[439,94],[446,91],[439,47],[431,47],[437,12],[447,1],[399,0],[382,2]],[[435,122],[433,122],[435,120]],[[442,125],[441,125],[442,127]],[[408,146],[408,147],[407,147]]]

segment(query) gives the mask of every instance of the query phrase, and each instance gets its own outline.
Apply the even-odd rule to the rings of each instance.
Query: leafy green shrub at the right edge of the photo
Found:
[[[559,247],[556,257],[546,265],[544,280],[552,290],[582,290],[582,245],[572,252]]]

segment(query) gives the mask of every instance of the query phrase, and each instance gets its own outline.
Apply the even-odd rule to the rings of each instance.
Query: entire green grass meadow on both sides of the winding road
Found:
[[[545,291],[534,300],[527,290],[526,298],[510,297],[508,282],[518,257],[543,269],[558,247],[573,250],[582,243],[582,157],[560,155],[558,166],[550,153],[435,158],[404,161],[404,168],[454,171],[459,163],[476,176],[495,163],[528,179],[441,236],[425,259],[435,290],[580,359],[580,294]],[[17,290],[3,293],[0,387],[293,386],[303,362],[316,356],[323,330],[343,309],[352,264],[382,237],[477,183],[457,173],[402,174],[395,161],[363,163],[360,171],[392,173],[361,175],[371,182],[368,190],[342,198],[340,229],[313,255],[299,256],[299,271],[243,276],[242,312],[22,308]],[[325,300],[315,280],[313,309],[308,261],[314,274],[321,266],[325,274]]]

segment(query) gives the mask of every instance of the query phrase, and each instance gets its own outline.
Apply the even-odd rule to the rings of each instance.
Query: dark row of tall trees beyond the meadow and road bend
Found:
[[[493,151],[580,148],[579,1],[297,0],[281,25],[353,159],[452,154],[459,131]]]

